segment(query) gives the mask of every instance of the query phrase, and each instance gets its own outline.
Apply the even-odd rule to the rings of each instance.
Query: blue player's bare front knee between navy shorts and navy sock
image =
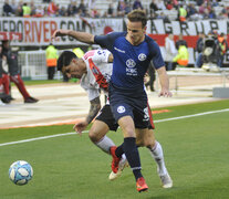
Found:
[[[134,121],[131,116],[123,116],[118,119],[117,123],[122,128],[124,138],[136,137]]]

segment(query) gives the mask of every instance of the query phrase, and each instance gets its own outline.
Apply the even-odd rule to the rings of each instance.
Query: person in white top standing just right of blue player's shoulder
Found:
[[[166,50],[166,56],[165,56],[166,69],[167,71],[170,71],[173,70],[173,59],[177,54],[177,50],[174,41],[174,34],[168,34],[168,36],[165,39],[165,50]]]

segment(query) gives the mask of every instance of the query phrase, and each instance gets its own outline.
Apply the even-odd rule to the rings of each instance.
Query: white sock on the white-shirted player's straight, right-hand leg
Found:
[[[159,176],[164,176],[167,174],[167,169],[165,167],[163,147],[158,142],[155,143],[154,148],[149,149],[152,157],[157,163],[157,172]]]

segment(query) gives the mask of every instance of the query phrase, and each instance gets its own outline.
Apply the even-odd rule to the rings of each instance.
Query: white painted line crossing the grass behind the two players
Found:
[[[202,115],[209,115],[209,114],[215,114],[215,113],[223,113],[223,112],[229,112],[229,108],[218,109],[218,111],[212,111],[212,112],[204,112],[204,113],[192,114],[192,115],[185,115],[185,116],[180,116],[180,117],[158,119],[158,121],[154,121],[154,123],[163,123],[163,122],[177,121],[177,119],[189,118],[189,117],[198,117],[198,116],[202,116]],[[84,130],[83,133],[89,133],[89,130]],[[15,144],[20,144],[20,143],[29,143],[29,142],[40,140],[40,139],[49,139],[49,138],[53,138],[53,137],[75,135],[75,134],[76,134],[75,132],[74,133],[65,133],[65,134],[55,134],[55,135],[50,135],[50,136],[42,136],[42,137],[30,138],[30,139],[22,139],[22,140],[18,140],[18,142],[2,143],[2,144],[0,144],[0,147],[1,146],[8,146],[8,145],[15,145]]]

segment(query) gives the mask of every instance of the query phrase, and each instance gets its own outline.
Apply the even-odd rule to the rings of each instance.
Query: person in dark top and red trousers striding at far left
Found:
[[[24,103],[37,103],[39,100],[31,97],[24,86],[24,83],[19,73],[18,53],[11,51],[10,41],[8,40],[2,41],[2,54],[7,57],[7,63],[10,73],[10,81],[12,81],[19,88],[20,93],[24,98]],[[10,100],[12,100],[12,97]]]

